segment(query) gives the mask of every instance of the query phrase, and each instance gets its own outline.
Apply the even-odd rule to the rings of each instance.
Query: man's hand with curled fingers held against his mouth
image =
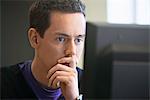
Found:
[[[66,100],[74,100],[79,96],[78,73],[76,70],[77,60],[73,57],[64,57],[58,60],[58,64],[52,67],[47,74],[48,86],[60,87]]]

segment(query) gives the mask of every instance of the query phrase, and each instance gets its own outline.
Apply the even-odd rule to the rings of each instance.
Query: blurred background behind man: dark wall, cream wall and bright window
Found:
[[[27,40],[28,8],[34,0],[1,0],[1,65],[31,59]],[[92,23],[150,25],[149,0],[82,0]],[[83,53],[84,54],[84,53]],[[83,68],[83,57],[79,66]]]

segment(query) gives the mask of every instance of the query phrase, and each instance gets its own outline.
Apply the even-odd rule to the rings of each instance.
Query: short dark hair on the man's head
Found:
[[[50,26],[52,11],[80,12],[85,16],[85,5],[80,0],[38,0],[29,9],[29,28],[35,28],[41,37]]]

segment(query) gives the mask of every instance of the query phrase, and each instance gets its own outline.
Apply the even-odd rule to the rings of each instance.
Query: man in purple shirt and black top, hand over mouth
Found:
[[[1,98],[76,100],[76,67],[85,39],[85,6],[79,0],[40,0],[29,11],[32,61],[1,69]]]

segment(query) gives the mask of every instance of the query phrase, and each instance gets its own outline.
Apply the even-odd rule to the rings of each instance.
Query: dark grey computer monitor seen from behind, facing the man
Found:
[[[85,99],[149,98],[150,26],[87,23]]]

